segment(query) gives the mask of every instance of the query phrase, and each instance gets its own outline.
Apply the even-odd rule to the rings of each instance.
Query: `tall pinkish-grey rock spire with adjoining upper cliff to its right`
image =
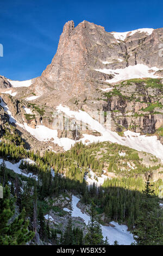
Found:
[[[83,21],[74,27],[74,22],[68,21],[52,63],[35,82],[35,92],[41,86],[42,92],[55,89],[64,90],[67,94],[82,93],[92,89],[91,80],[111,78],[96,69],[126,68],[135,64],[163,68],[159,54],[163,28],[155,29],[151,34],[129,32],[124,41],[115,37],[114,33],[108,33],[104,27],[93,23]],[[110,64],[103,63],[108,60],[111,60]]]

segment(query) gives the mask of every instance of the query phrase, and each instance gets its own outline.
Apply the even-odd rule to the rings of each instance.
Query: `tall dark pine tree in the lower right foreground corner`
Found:
[[[163,234],[160,228],[162,226],[162,217],[159,215],[158,200],[153,196],[154,191],[151,186],[148,176],[140,211],[133,230],[137,245],[163,245]]]

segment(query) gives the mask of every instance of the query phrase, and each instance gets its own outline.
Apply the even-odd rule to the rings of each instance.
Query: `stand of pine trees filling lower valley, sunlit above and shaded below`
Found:
[[[10,192],[8,188],[8,193],[10,193],[11,199],[16,195],[16,204],[20,212],[23,212],[20,217],[21,221],[24,220],[26,224],[24,224],[22,231],[27,231],[26,220],[27,218],[29,220],[28,229],[30,239],[34,231],[35,239],[37,233],[39,233],[41,239],[45,239],[46,241],[51,239],[55,244],[60,243],[60,241],[61,244],[101,244],[103,241],[101,230],[94,217],[99,214],[99,212],[104,212],[107,222],[115,220],[119,223],[127,224],[130,230],[135,234],[135,240],[136,236],[139,237],[139,239],[136,240],[137,244],[162,244],[162,215],[158,198],[156,197],[159,186],[163,184],[162,180],[158,180],[152,184],[148,180],[145,184],[142,178],[124,176],[111,180],[108,179],[104,182],[102,187],[97,188],[95,184],[88,187],[84,176],[86,173],[89,173],[89,169],[92,169],[99,175],[103,169],[103,163],[95,159],[91,154],[96,144],[85,146],[82,143],[78,143],[65,153],[55,154],[53,152],[46,152],[44,156],[40,157],[39,153],[34,154],[33,151],[24,149],[24,145],[17,135],[7,135],[5,139],[7,140],[5,143],[0,143],[1,158],[7,161],[12,160],[18,162],[29,157],[35,161],[35,164],[28,164],[27,162],[21,161],[20,168],[37,175],[38,181],[24,178],[22,175],[11,172],[5,167],[4,161],[0,168],[1,184],[8,186],[8,182],[11,182]],[[14,139],[16,139],[16,143],[14,143]],[[115,145],[113,144],[110,147],[114,149]],[[136,159],[137,156],[134,157]],[[52,176],[51,168],[54,169],[54,177]],[[66,172],[66,177],[61,175],[63,171]],[[26,181],[23,192],[20,189],[22,180]],[[155,194],[152,194],[151,185],[153,185]],[[57,239],[57,232],[60,231],[50,230],[48,223],[45,222],[45,218],[43,217],[45,212],[43,212],[38,203],[42,202],[48,196],[55,197],[65,191],[81,194],[82,203],[84,204],[91,204],[93,200],[96,205],[96,207],[94,206],[94,208],[91,209],[91,223],[89,224],[89,232],[86,237],[84,237],[82,230],[72,228],[70,220],[66,232],[67,234],[68,232],[71,234],[71,239],[68,241],[67,236],[61,234],[59,241]],[[11,202],[10,205],[13,206]],[[4,205],[2,204],[1,207],[3,210]],[[25,209],[25,211],[23,209]],[[11,210],[11,212],[13,214],[14,211]],[[10,215],[8,215],[8,220]],[[19,222],[17,220],[17,224],[15,225],[18,227],[18,223],[21,223],[21,221]],[[135,229],[133,229],[134,226]],[[93,237],[91,228],[96,230],[95,237]],[[99,236],[96,237],[96,234]],[[3,242],[10,243],[10,239],[7,240],[7,236],[5,237],[6,240]],[[24,238],[18,241],[21,244],[26,240],[27,239]],[[107,241],[105,241],[105,243],[107,243]],[[115,242],[115,244],[116,243],[117,242]]]

